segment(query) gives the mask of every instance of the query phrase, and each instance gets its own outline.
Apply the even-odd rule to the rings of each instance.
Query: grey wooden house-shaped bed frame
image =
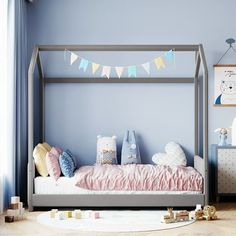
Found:
[[[162,77],[162,78],[47,78],[44,76],[40,59],[42,51],[168,51],[195,53],[195,73],[193,77]],[[200,66],[203,74],[200,76]],[[44,141],[44,88],[46,83],[192,83],[194,86],[194,168],[204,178],[202,194],[157,194],[157,195],[75,195],[75,194],[35,194],[34,178],[35,165],[33,161],[34,148],[34,77],[35,69],[39,73],[39,109],[40,109],[40,140]],[[202,82],[200,81],[202,79]],[[200,86],[203,94],[199,99]],[[200,104],[201,101],[201,104]],[[201,116],[201,117],[200,117]],[[202,119],[202,128],[200,128]],[[201,129],[202,132],[199,132]],[[201,134],[202,157],[199,156]],[[195,206],[208,203],[208,70],[203,46],[199,45],[36,45],[28,71],[28,207],[167,207],[167,206]]]

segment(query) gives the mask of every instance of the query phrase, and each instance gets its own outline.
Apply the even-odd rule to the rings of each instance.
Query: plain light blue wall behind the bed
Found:
[[[236,115],[235,107],[212,106],[212,65],[227,49],[225,39],[236,38],[235,7],[234,0],[35,0],[28,5],[29,52],[34,44],[202,43],[209,68],[209,143],[216,143],[214,129],[229,127]],[[85,56],[119,64],[114,55]],[[153,58],[153,54],[127,58],[118,60],[129,65]],[[235,59],[236,55],[229,53],[222,63],[234,63]],[[44,61],[47,75],[88,76],[63,60],[45,55]],[[176,56],[176,66],[170,65],[165,72],[188,76],[192,70],[188,62],[189,58]],[[120,146],[127,128],[137,131],[146,163],[170,140],[193,153],[191,85],[48,85],[46,101],[47,141],[69,147],[79,164],[94,163],[97,134],[116,134]]]

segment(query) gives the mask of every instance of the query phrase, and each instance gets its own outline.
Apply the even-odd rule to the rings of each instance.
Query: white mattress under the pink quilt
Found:
[[[34,179],[36,194],[201,194],[198,191],[94,191],[75,186],[75,179],[60,177],[55,181],[51,177],[36,177]]]

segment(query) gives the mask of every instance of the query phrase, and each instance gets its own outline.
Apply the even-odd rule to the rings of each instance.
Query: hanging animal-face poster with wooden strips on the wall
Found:
[[[214,105],[236,106],[236,65],[214,65]]]

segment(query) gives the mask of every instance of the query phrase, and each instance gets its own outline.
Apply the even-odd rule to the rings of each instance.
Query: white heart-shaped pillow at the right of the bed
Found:
[[[185,153],[178,143],[173,141],[165,146],[166,153],[156,153],[152,157],[152,161],[157,165],[166,166],[186,166],[187,159]]]

